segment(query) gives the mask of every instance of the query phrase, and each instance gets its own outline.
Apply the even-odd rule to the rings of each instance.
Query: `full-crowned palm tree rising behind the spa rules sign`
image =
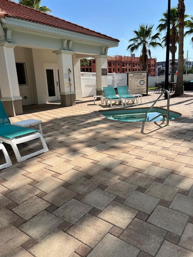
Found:
[[[148,55],[151,58],[151,52],[149,48],[155,48],[157,46],[162,47],[162,44],[157,42],[157,40],[160,41],[160,33],[156,33],[153,35],[153,26],[154,25],[148,24],[139,25],[139,30],[133,30],[136,37],[128,40],[128,42],[132,42],[132,44],[128,45],[127,47],[127,50],[130,50],[131,53],[137,51],[140,47],[142,48],[139,58],[140,64],[142,66],[142,71],[147,71]]]

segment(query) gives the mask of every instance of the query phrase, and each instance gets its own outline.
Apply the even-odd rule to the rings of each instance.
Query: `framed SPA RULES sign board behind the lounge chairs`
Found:
[[[129,71],[128,85],[130,94],[147,93],[147,71]]]

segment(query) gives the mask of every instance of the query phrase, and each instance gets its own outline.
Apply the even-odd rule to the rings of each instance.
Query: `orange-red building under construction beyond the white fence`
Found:
[[[81,66],[82,72],[96,72],[95,59],[89,60],[89,66]],[[149,76],[156,76],[156,58],[148,58],[148,74]],[[128,73],[129,71],[141,71],[142,67],[139,63],[139,57],[114,55],[107,59],[107,72],[108,73]]]

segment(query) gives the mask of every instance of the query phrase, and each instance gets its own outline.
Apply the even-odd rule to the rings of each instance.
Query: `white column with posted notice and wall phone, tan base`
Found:
[[[60,96],[62,106],[75,105],[74,71],[72,55],[74,52],[68,50],[54,51],[58,57],[58,68],[60,77]]]

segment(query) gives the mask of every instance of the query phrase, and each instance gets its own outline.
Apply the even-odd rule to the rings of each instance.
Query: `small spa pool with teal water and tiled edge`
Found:
[[[113,111],[100,111],[103,116],[107,119],[114,121],[145,121],[145,113],[149,110],[149,108],[138,108],[138,109],[130,109],[130,110],[113,110]],[[167,114],[167,110],[154,107],[147,114],[147,121],[150,121],[152,118],[156,117],[158,114]],[[169,111],[169,120],[174,120],[181,117],[180,113]],[[163,116],[156,118],[153,121],[162,121]],[[166,119],[165,119],[166,120]]]

